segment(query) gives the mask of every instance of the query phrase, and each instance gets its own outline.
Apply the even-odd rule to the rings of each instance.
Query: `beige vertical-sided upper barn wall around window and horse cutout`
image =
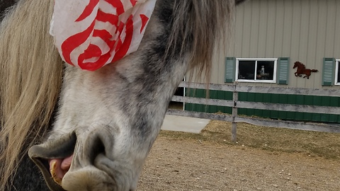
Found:
[[[339,10],[339,14],[336,11]],[[249,0],[237,6],[229,48],[220,52],[212,68],[212,83],[225,83],[224,57],[290,57],[289,83],[296,88],[322,87],[322,59],[340,59],[339,0]],[[339,31],[339,33],[337,33]],[[293,63],[318,69],[310,79],[297,78]],[[283,86],[276,83],[240,83]]]

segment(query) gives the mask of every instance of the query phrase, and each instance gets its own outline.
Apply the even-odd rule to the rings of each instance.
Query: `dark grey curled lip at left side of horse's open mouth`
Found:
[[[64,189],[55,183],[50,174],[49,159],[67,158],[74,153],[74,148],[77,142],[77,136],[74,132],[69,134],[64,139],[53,141],[52,144],[42,144],[32,146],[28,151],[28,156],[40,168],[45,181],[53,191],[64,191]]]

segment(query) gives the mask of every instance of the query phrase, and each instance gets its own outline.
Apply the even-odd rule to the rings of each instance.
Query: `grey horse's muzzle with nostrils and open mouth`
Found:
[[[135,190],[133,165],[113,156],[112,136],[103,129],[72,132],[33,146],[28,154],[50,190]]]

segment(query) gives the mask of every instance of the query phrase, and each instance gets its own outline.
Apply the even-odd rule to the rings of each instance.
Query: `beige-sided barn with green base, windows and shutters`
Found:
[[[283,88],[340,88],[340,19],[337,0],[250,0],[237,7],[227,50],[216,56],[212,83]],[[295,62],[314,69],[295,76]],[[192,93],[194,92],[194,93]],[[205,98],[205,90],[186,91]],[[232,100],[232,92],[210,91]],[[339,97],[239,93],[239,100],[340,107]],[[185,103],[184,110],[231,113],[232,108]],[[340,115],[239,109],[239,115],[281,120],[340,122]]]

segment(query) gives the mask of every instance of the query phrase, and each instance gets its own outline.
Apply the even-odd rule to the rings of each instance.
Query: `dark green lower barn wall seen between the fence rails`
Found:
[[[206,98],[206,91],[203,89],[190,89],[186,91],[186,96],[196,98]],[[232,92],[229,91],[209,91],[209,98],[220,100],[232,100]],[[340,107],[339,97],[327,96],[300,96],[273,93],[239,93],[239,101],[251,101],[262,103],[283,103],[297,105],[317,105]],[[202,105],[185,103],[184,109],[196,112],[224,112],[231,114],[232,108],[216,105]],[[340,115],[319,114],[294,111],[276,111],[276,110],[256,110],[239,108],[238,115],[257,116],[280,120],[298,120],[308,122],[340,122]]]

